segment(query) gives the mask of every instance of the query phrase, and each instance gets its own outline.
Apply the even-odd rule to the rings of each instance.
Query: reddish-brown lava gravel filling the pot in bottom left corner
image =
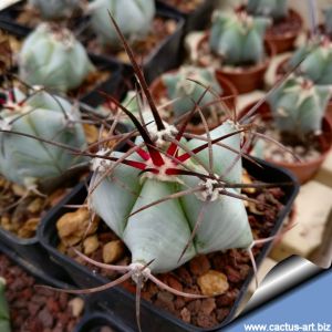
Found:
[[[6,267],[6,269],[4,269]],[[34,288],[35,280],[0,253],[0,274],[7,281],[13,332],[72,332],[76,318],[68,312],[70,297]]]

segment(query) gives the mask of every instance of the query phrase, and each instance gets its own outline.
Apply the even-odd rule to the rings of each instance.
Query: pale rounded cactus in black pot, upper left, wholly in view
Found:
[[[66,92],[79,87],[92,71],[84,46],[71,31],[54,24],[40,24],[19,54],[20,77],[30,85]]]

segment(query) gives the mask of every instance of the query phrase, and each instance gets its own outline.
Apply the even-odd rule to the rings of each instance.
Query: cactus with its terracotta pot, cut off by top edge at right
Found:
[[[299,37],[303,21],[293,9],[288,8],[288,0],[248,0],[246,10],[255,17],[272,19],[267,29],[266,40],[274,45],[277,53],[292,50]]]

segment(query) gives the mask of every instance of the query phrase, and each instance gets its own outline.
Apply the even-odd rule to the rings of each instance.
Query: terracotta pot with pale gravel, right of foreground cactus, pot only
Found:
[[[248,113],[249,110],[252,108],[252,106],[256,103],[252,103],[252,104],[246,106],[241,111],[240,116]],[[257,112],[263,121],[271,120],[271,110],[270,110],[270,106],[269,106],[268,103],[263,103],[258,108]],[[326,118],[326,116],[323,118],[322,132],[323,132],[323,134],[319,137],[319,142],[320,142],[320,145],[321,145],[322,153],[321,153],[320,157],[317,158],[315,160],[303,162],[303,163],[282,163],[282,162],[276,162],[276,160],[269,160],[269,162],[292,172],[298,177],[300,184],[307,183],[308,180],[310,180],[317,174],[317,172],[319,170],[319,168],[321,167],[321,165],[325,160],[329,152],[331,151],[331,146],[332,146],[332,124]]]

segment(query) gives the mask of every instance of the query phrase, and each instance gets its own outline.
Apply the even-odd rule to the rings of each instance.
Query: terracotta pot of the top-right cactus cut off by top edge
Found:
[[[281,23],[274,23],[273,27],[268,29],[268,31],[266,33],[266,41],[273,44],[273,46],[276,48],[277,54],[284,53],[294,48],[295,40],[299,37],[301,29],[303,27],[303,19],[297,11],[290,9],[289,17],[290,17],[291,21],[299,22],[299,28],[291,29],[284,33],[280,33],[280,34],[273,33],[273,29],[276,29],[276,27],[278,27],[278,24],[281,25],[282,24],[282,22],[281,22]]]

